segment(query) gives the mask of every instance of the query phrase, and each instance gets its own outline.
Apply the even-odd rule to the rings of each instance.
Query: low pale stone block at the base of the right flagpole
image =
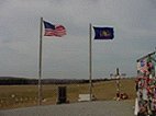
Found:
[[[94,95],[91,95],[91,100],[96,100]],[[90,101],[90,94],[79,94],[78,102]]]

